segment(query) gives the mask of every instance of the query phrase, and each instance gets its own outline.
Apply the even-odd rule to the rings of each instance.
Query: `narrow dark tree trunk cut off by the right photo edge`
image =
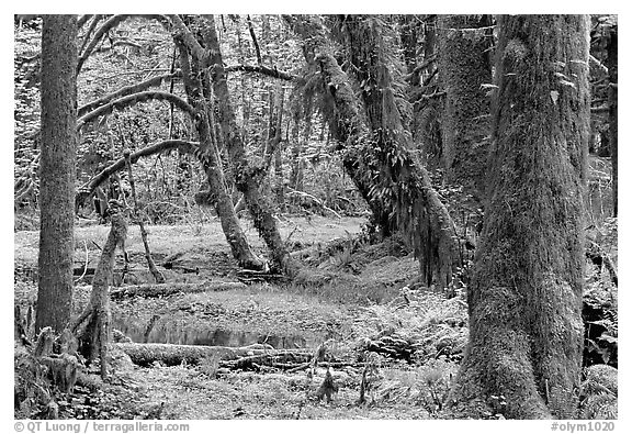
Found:
[[[619,85],[619,55],[617,26],[610,30],[610,43],[608,44],[608,76],[610,89],[608,94],[609,124],[610,124],[610,157],[612,162],[612,215],[618,215],[619,208],[619,142],[618,142],[618,85]]]

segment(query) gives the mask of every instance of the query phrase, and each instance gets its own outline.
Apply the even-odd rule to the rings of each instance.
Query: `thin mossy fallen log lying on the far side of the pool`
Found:
[[[246,289],[246,285],[238,281],[204,281],[200,283],[145,283],[122,287],[110,292],[112,300],[121,300],[131,297],[167,297],[179,292],[217,292],[230,289]]]

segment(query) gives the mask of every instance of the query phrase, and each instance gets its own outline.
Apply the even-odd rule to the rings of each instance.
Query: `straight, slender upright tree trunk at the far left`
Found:
[[[76,70],[77,16],[44,15],[36,333],[46,326],[59,333],[70,321],[75,251]]]

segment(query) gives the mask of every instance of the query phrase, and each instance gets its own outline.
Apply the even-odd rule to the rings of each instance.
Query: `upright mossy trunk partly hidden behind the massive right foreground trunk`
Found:
[[[439,75],[445,90],[442,159],[445,180],[482,197],[487,163],[489,102],[483,85],[492,84],[482,26],[485,15],[439,15]]]

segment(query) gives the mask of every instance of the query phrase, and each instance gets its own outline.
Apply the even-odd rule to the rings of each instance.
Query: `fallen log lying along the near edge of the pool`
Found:
[[[270,364],[282,360],[305,360],[312,357],[308,350],[272,349],[269,345],[253,344],[242,347],[174,345],[174,344],[112,344],[114,348],[127,354],[135,365],[149,366],[160,361],[167,366],[180,365],[185,361],[199,365],[205,359],[223,360],[232,369],[247,368],[249,364]]]

